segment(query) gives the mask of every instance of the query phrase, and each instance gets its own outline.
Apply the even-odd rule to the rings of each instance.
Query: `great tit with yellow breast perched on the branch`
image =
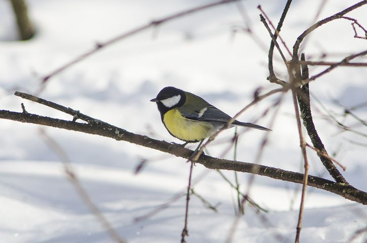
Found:
[[[232,118],[201,97],[174,87],[162,89],[157,97],[150,101],[157,104],[160,118],[168,132],[185,141],[185,145],[202,142]],[[262,126],[241,123],[238,120],[234,120],[231,125],[230,127],[242,126],[271,131]]]

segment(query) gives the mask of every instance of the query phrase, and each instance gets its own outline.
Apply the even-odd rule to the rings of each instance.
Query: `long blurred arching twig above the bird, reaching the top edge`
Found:
[[[119,34],[119,35],[109,39],[108,41],[106,41],[104,43],[99,42],[98,44],[95,45],[95,47],[92,50],[87,51],[87,52],[77,56],[76,58],[72,59],[71,61],[65,63],[64,65],[60,66],[59,68],[55,69],[54,71],[52,71],[49,74],[42,77],[42,82],[43,82],[43,84],[45,84],[47,82],[47,80],[49,80],[54,75],[62,72],[63,70],[67,69],[68,67],[72,66],[73,64],[86,59],[87,57],[89,57],[92,54],[98,52],[99,50],[102,50],[103,48],[105,48],[107,46],[110,46],[111,44],[114,44],[118,41],[121,41],[122,39],[130,37],[134,34],[140,33],[140,32],[142,32],[146,29],[149,29],[151,27],[156,27],[158,25],[164,24],[164,23],[166,23],[168,21],[171,21],[173,19],[177,19],[177,18],[186,16],[188,14],[196,13],[196,12],[204,10],[204,9],[208,9],[208,8],[211,8],[211,7],[214,7],[214,6],[223,5],[223,4],[227,4],[227,3],[232,3],[232,2],[235,2],[235,1],[238,1],[238,0],[222,0],[222,1],[214,2],[214,3],[209,3],[209,4],[206,4],[206,5],[201,5],[199,7],[191,8],[191,9],[188,9],[188,10],[184,10],[182,12],[172,14],[168,17],[153,20],[153,21],[150,21],[149,23],[146,23],[146,24],[141,25],[139,27],[133,28],[133,29],[127,31],[127,32],[124,32],[122,34]]]

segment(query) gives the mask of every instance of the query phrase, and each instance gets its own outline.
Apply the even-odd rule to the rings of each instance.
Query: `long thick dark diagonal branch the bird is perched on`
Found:
[[[7,110],[0,110],[0,118],[16,120],[22,123],[38,124],[54,128],[83,132],[87,134],[94,134],[112,138],[117,141],[127,141],[140,146],[170,153],[178,157],[183,157],[185,159],[188,159],[192,154],[192,150],[183,148],[180,145],[170,144],[165,141],[159,141],[149,138],[147,136],[134,134],[124,129],[108,125],[106,123],[103,123],[104,124],[103,126],[99,124],[77,123],[75,121],[55,119],[47,116],[40,116],[30,113],[13,112]],[[301,173],[285,171],[273,167],[261,166],[240,161],[220,159],[208,155],[201,155],[198,158],[197,163],[210,169],[231,170],[246,173],[256,172],[257,175],[267,176],[277,180],[289,181],[300,184],[302,184],[303,182],[303,174]],[[256,169],[254,170],[254,168]],[[349,200],[357,201],[358,203],[367,205],[367,193],[358,190],[351,185],[336,183],[315,176],[308,176],[307,185],[322,190],[330,191],[332,193],[341,195]]]

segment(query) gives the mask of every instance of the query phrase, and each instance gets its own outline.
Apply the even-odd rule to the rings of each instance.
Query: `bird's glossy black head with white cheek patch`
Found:
[[[156,98],[151,99],[150,101],[157,103],[160,116],[163,119],[163,115],[167,111],[185,103],[186,95],[183,90],[175,87],[166,87],[159,91]]]

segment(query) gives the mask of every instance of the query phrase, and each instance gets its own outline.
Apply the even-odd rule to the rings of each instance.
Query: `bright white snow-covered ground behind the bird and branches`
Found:
[[[207,3],[208,1],[56,1],[31,0],[30,16],[37,35],[29,42],[14,42],[15,24],[7,1],[0,1],[0,109],[27,111],[58,118],[71,117],[45,106],[21,100],[14,91],[34,94],[39,77],[89,50],[97,41],[147,23],[152,19]],[[283,3],[284,2],[284,3]],[[258,4],[277,22],[286,1],[243,1],[252,29],[266,49],[270,38],[259,21]],[[339,12],[356,1],[327,1],[318,19]],[[282,27],[282,37],[292,47],[296,37],[314,21],[319,1],[294,1]],[[348,17],[367,25],[367,7]],[[307,11],[307,15],[304,15]],[[258,87],[277,88],[267,82],[267,50],[248,34],[231,34],[243,21],[235,5],[206,10],[150,29],[115,44],[50,79],[39,95],[128,131],[156,139],[178,142],[160,123],[149,99],[165,86],[196,93],[218,108],[234,115],[252,100]],[[316,30],[303,47],[306,55],[336,53],[329,61],[340,61],[346,53],[365,50],[366,41],[353,38],[350,22],[337,20]],[[276,52],[275,52],[276,53]],[[277,55],[278,58],[278,55]],[[275,70],[286,77],[281,59]],[[314,57],[312,60],[318,60]],[[366,61],[361,58],[359,61]],[[320,68],[311,68],[312,74]],[[328,110],[343,113],[333,103],[366,102],[366,68],[339,68],[310,85]],[[261,163],[302,172],[302,161],[293,115],[292,97],[286,96],[275,120]],[[242,114],[252,121],[272,105],[269,98]],[[347,167],[346,179],[367,190],[367,140],[340,133],[326,118],[320,103],[312,100],[316,128],[330,153]],[[367,109],[356,113],[367,117]],[[271,114],[258,121],[267,126]],[[365,127],[350,117],[341,121],[361,132]],[[333,126],[331,126],[331,124]],[[40,135],[39,127],[0,120],[0,242],[111,242],[67,179],[60,158]],[[128,242],[179,242],[184,223],[185,199],[141,221],[134,221],[183,193],[189,164],[185,160],[126,142],[69,131],[43,128],[72,161],[75,172],[93,202]],[[239,129],[239,132],[242,130]],[[220,139],[230,138],[228,130]],[[249,131],[241,135],[237,159],[254,162],[264,135]],[[227,145],[209,147],[213,156]],[[310,174],[331,179],[314,152],[309,151]],[[225,155],[233,158],[233,151]],[[150,161],[134,175],[142,158]],[[231,180],[233,173],[224,172]],[[215,171],[201,165],[194,179],[205,175],[194,190],[211,204],[215,213],[195,196],[190,200],[188,242],[224,242],[235,219],[235,193]],[[240,174],[242,190],[249,175]],[[300,186],[256,177],[251,197],[269,213],[256,214],[247,206],[239,220],[233,242],[293,242],[298,218]],[[308,188],[301,242],[345,242],[366,226],[367,208],[341,196]],[[365,242],[367,235],[352,242]]]

